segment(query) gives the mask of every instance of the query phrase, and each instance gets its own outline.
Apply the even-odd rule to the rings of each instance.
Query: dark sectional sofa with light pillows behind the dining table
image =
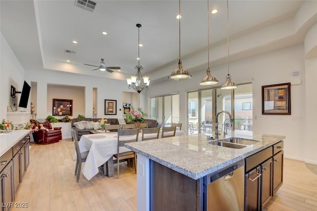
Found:
[[[81,137],[82,135],[89,134],[89,132],[90,132],[91,130],[98,129],[98,128],[97,128],[96,124],[95,124],[95,126],[93,126],[93,127],[91,127],[90,124],[88,124],[88,125],[90,126],[90,127],[88,127],[88,128],[87,128],[87,125],[85,125],[86,127],[84,128],[84,127],[78,126],[78,124],[77,124],[77,127],[76,127],[76,126],[75,126],[76,123],[79,123],[79,122],[81,122],[81,121],[97,123],[98,120],[101,120],[101,118],[100,118],[100,119],[93,119],[93,118],[74,118],[74,119],[71,121],[71,128],[75,130],[75,132],[76,132],[76,134],[77,134],[78,140],[80,140],[80,137]],[[108,121],[107,123],[110,124],[110,125],[119,125],[118,119],[115,119],[115,118],[113,118],[113,119],[107,119],[107,121]],[[126,120],[125,120],[125,122],[126,122]],[[145,123],[148,123],[148,127],[157,127],[157,126],[158,126],[158,124],[157,124],[158,122],[157,122],[156,120],[148,120],[148,119],[146,119],[146,120],[144,120],[144,122],[145,122]],[[129,123],[127,123],[127,124],[129,124]]]

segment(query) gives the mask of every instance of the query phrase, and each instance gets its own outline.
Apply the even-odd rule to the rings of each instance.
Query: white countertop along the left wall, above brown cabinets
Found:
[[[29,132],[28,129],[20,129],[0,133],[0,157]]]

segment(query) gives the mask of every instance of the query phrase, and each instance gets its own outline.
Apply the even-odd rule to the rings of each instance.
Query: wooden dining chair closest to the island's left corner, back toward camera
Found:
[[[124,147],[124,144],[130,143],[130,142],[136,142],[138,141],[138,138],[139,138],[139,128],[118,129],[117,154],[113,155],[113,157],[117,159],[117,178],[119,178],[120,160],[132,158],[135,173],[137,172],[136,153],[133,151],[127,151],[127,148]]]

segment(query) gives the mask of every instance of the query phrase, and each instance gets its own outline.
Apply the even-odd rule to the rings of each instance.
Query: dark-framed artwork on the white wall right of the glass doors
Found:
[[[262,86],[262,114],[291,114],[291,83]]]

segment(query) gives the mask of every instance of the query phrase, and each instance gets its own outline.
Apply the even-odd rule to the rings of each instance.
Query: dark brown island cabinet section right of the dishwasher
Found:
[[[283,141],[245,159],[245,211],[261,211],[283,183]]]

